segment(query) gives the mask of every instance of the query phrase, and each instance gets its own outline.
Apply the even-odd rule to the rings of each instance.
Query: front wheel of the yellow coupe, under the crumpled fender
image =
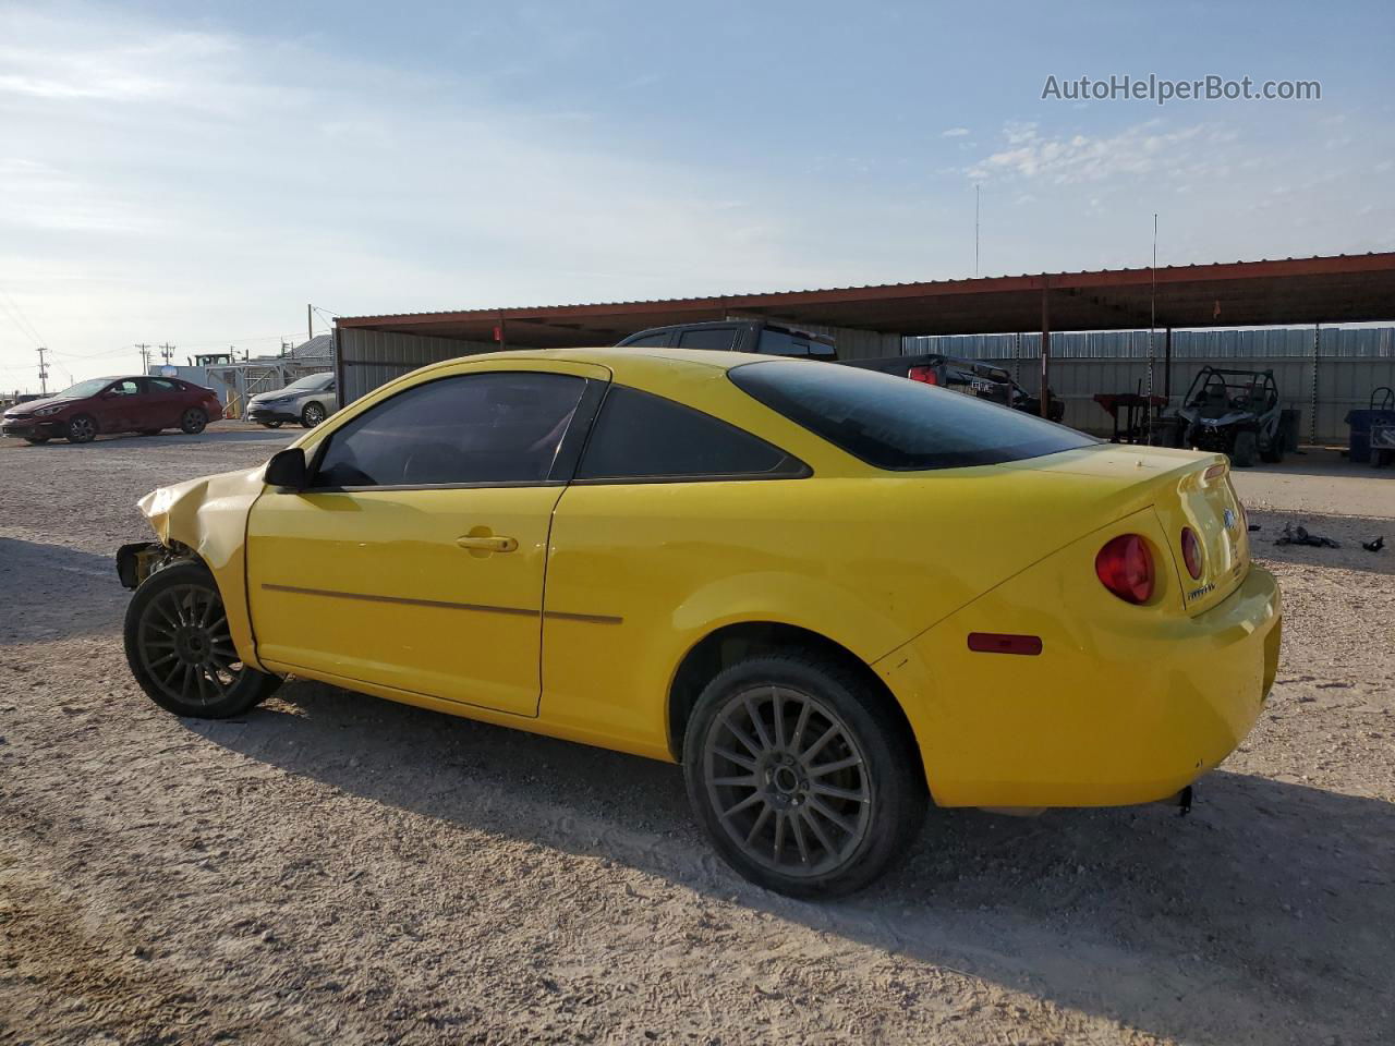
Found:
[[[237,660],[218,584],[195,562],[156,570],[135,590],[126,608],[126,662],[152,702],[201,720],[241,715],[280,686]]]

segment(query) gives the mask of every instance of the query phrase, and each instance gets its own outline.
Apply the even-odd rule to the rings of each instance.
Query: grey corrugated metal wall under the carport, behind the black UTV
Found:
[[[1038,386],[1039,333],[907,338],[905,351],[988,360],[999,367],[1016,368],[1024,388],[1035,392]],[[1161,396],[1168,388],[1161,331],[1154,335],[1152,356],[1152,391]],[[1313,328],[1175,331],[1172,406],[1182,402],[1191,379],[1207,364],[1272,370],[1283,406],[1296,407],[1303,414],[1299,438],[1303,442],[1345,444],[1346,411],[1364,407],[1371,389],[1395,385],[1395,329],[1327,329],[1315,346]],[[1109,414],[1094,402],[1094,395],[1141,392],[1147,384],[1147,331],[1052,335],[1050,385],[1066,403],[1067,425],[1108,434]]]

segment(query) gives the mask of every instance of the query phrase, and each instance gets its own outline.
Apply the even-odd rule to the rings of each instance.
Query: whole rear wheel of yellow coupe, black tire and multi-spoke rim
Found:
[[[741,661],[706,686],[684,775],[723,859],[790,897],[865,887],[925,821],[921,756],[886,695],[799,653]]]

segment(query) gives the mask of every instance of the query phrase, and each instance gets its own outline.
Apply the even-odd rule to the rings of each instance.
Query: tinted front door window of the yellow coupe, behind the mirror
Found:
[[[329,437],[315,487],[541,483],[586,382],[462,374],[417,385]]]

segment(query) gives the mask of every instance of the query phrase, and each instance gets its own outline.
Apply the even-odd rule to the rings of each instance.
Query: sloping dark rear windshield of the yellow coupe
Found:
[[[1096,442],[1020,410],[854,367],[770,360],[727,374],[771,410],[877,469],[996,464]]]

